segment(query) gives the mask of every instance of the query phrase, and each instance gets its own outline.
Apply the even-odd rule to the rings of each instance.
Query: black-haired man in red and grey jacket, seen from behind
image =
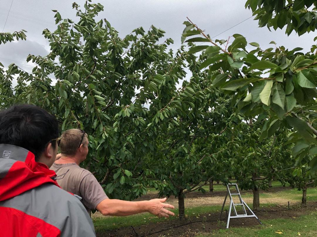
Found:
[[[39,107],[15,105],[0,112],[2,236],[95,236],[84,206],[49,170],[58,140],[58,121]]]

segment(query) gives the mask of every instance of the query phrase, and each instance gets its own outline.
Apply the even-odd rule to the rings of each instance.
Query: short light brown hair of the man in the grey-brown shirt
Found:
[[[59,147],[61,148],[61,154],[63,156],[74,156],[81,144],[88,144],[86,132],[81,144],[79,144],[82,133],[83,131],[81,129],[69,129],[61,134],[61,142]]]

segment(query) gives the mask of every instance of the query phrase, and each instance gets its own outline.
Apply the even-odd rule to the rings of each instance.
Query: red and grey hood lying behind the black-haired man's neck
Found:
[[[34,154],[22,147],[0,144],[0,201],[15,197],[44,183],[53,183],[56,174],[35,161]]]

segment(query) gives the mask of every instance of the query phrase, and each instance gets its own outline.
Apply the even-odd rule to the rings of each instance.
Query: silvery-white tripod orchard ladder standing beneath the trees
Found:
[[[262,222],[259,220],[259,218],[257,218],[257,216],[253,213],[253,211],[248,207],[248,205],[242,200],[241,198],[241,194],[239,192],[239,189],[238,189],[238,185],[236,183],[231,183],[231,184],[226,184],[227,186],[227,194],[226,194],[226,197],[224,199],[224,202],[223,202],[223,205],[222,205],[222,208],[221,208],[221,212],[220,212],[220,216],[219,216],[219,219],[221,218],[221,214],[222,214],[222,211],[223,211],[223,207],[224,207],[224,204],[226,203],[226,200],[227,200],[227,196],[229,195],[229,198],[230,198],[230,208],[229,208],[229,215],[228,215],[228,220],[227,220],[227,229],[229,228],[229,222],[230,222],[230,219],[231,218],[242,218],[242,217],[255,217],[257,221],[260,222],[261,225]],[[236,188],[236,192],[232,193],[232,191],[230,192],[230,187],[234,186]],[[238,195],[239,197],[239,200],[240,200],[240,203],[234,203],[233,200],[232,200],[232,195]],[[236,206],[241,206],[242,207],[242,210],[243,210],[243,214],[237,214],[236,212]],[[247,214],[246,210],[245,210],[245,207],[248,208],[248,210],[251,212],[250,215]],[[233,215],[231,215],[231,210],[233,209],[234,213]]]

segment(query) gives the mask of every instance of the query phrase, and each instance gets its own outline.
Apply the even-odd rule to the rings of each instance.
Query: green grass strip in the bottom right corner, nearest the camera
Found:
[[[310,215],[289,219],[262,221],[263,226],[253,228],[229,228],[201,234],[197,237],[271,237],[271,236],[317,236],[317,212]],[[225,227],[224,227],[225,228]]]

